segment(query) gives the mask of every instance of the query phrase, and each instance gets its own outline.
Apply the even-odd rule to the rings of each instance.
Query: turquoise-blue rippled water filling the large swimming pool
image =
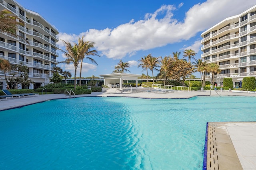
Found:
[[[0,112],[1,169],[202,169],[206,122],[256,121],[256,97],[82,97]]]

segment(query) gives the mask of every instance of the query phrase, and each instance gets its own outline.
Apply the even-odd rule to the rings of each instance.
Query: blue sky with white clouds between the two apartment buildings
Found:
[[[82,77],[110,74],[122,59],[132,74],[146,74],[138,68],[141,57],[172,56],[172,52],[194,50],[201,57],[202,32],[225,18],[241,14],[256,5],[255,0],[16,0],[37,12],[57,28],[62,40],[94,42],[96,64],[84,59]],[[66,58],[58,51],[58,61]],[[74,77],[74,65],[58,64]],[[80,67],[78,67],[80,70]],[[125,72],[126,73],[126,72]],[[130,72],[127,72],[130,73]],[[148,72],[152,76],[151,71]],[[157,75],[158,71],[154,71]],[[199,77],[200,74],[194,74]],[[77,72],[79,76],[79,71]]]

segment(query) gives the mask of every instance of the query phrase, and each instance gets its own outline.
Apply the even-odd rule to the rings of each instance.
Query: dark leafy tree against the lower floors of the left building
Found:
[[[20,86],[29,86],[34,83],[32,80],[28,79],[28,67],[26,65],[13,65],[12,71],[10,72],[10,77],[6,78],[6,82],[11,85],[11,89],[18,89]],[[20,85],[18,87],[18,85]]]

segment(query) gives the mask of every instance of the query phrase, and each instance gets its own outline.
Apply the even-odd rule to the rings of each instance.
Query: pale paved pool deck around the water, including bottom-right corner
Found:
[[[174,93],[108,93],[93,92],[76,97],[136,97],[144,99],[186,99],[195,96],[253,96],[255,93],[190,91]],[[0,99],[0,111],[40,103],[52,99],[69,98],[64,94],[39,95],[25,98]],[[71,97],[73,98],[73,97]],[[255,104],[255,103],[254,103]],[[256,169],[256,122],[208,123],[207,167],[204,169]],[[214,148],[211,149],[210,148]],[[210,162],[210,163],[209,163]],[[214,164],[213,164],[214,163]]]

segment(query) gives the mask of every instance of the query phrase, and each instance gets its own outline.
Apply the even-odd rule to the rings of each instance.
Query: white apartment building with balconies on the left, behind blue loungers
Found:
[[[0,0],[0,10],[4,9],[18,16],[19,22],[24,24],[16,33],[29,43],[0,33],[0,58],[7,59],[12,65],[22,63],[28,67],[29,79],[34,84],[19,86],[19,89],[36,89],[48,84],[53,67],[58,63],[58,30],[40,14],[24,8],[15,0]],[[6,89],[3,71],[0,71],[0,89]]]

